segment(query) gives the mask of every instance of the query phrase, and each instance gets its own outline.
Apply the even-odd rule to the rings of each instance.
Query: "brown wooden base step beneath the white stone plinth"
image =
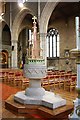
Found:
[[[14,114],[36,114],[43,118],[60,118],[61,120],[67,120],[68,115],[73,110],[73,105],[67,102],[66,106],[56,108],[54,110],[44,107],[42,105],[23,105],[14,101],[14,95],[11,95],[5,101],[5,108]]]

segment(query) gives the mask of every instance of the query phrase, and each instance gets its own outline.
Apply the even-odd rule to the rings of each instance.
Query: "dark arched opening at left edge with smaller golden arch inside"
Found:
[[[0,55],[5,56],[5,60],[0,67],[3,68],[10,68],[11,66],[11,31],[10,28],[5,20],[0,21]],[[2,58],[1,58],[2,59]]]

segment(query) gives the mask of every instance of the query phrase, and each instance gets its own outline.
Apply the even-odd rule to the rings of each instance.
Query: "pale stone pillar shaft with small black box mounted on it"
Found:
[[[11,57],[11,61],[12,61],[12,68],[17,68],[18,67],[18,56],[17,56],[17,40],[12,40],[12,57]]]

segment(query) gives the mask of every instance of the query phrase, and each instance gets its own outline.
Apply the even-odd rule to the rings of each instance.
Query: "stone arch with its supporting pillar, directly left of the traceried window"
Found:
[[[43,56],[43,58],[46,60],[46,33],[47,33],[47,27],[48,27],[48,22],[51,17],[51,14],[57,4],[59,3],[60,0],[57,0],[57,2],[47,2],[40,18],[40,56]],[[44,46],[44,47],[42,47]]]

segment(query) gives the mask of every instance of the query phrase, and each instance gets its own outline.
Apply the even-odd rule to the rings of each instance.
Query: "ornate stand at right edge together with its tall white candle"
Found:
[[[76,17],[76,49],[72,49],[71,53],[76,57],[77,64],[77,93],[78,96],[74,101],[74,112],[69,115],[69,118],[80,120],[80,29],[79,29],[79,17]]]

